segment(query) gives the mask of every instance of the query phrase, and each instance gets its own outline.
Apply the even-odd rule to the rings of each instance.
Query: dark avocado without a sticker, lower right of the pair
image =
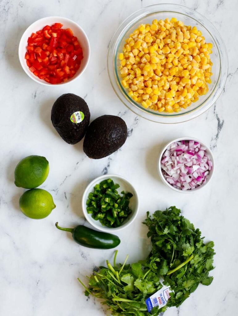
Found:
[[[103,115],[89,126],[83,141],[83,151],[89,158],[101,159],[114,153],[126,141],[127,126],[123,119]]]

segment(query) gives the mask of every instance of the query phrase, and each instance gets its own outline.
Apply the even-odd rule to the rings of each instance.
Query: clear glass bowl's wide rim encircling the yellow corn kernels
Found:
[[[167,9],[165,10],[164,7],[166,7]],[[186,12],[185,10],[188,12]],[[187,15],[187,16],[189,16],[189,12],[193,13],[193,15],[195,16],[189,16],[189,17],[192,18],[194,21],[198,22],[198,24],[201,24],[206,29],[206,31],[211,35],[214,43],[217,46],[217,51],[219,54],[218,57],[220,60],[220,69],[219,69],[219,75],[218,75],[217,81],[212,91],[207,96],[207,98],[201,104],[199,104],[198,106],[196,106],[196,108],[192,110],[189,110],[186,112],[179,112],[177,114],[161,114],[159,112],[157,113],[157,112],[152,112],[152,111],[143,109],[137,102],[135,102],[129,97],[127,92],[125,92],[124,88],[121,86],[120,80],[118,80],[119,78],[118,78],[116,67],[115,67],[116,56],[118,52],[118,47],[121,43],[121,40],[123,39],[125,35],[125,32],[127,32],[128,28],[132,27],[135,23],[137,23],[138,20],[148,15],[154,14],[156,12],[174,12],[174,13]],[[200,21],[198,21],[198,19]],[[204,25],[206,25],[206,27]],[[211,31],[213,35],[211,34]],[[119,28],[114,33],[113,38],[108,48],[107,72],[108,72],[108,76],[109,76],[111,85],[113,87],[113,90],[115,94],[118,96],[119,100],[121,100],[121,102],[127,108],[129,108],[132,112],[134,112],[136,115],[144,119],[157,122],[157,123],[164,123],[164,124],[182,123],[190,119],[193,119],[195,117],[198,117],[199,115],[204,113],[206,110],[208,110],[217,101],[218,97],[223,91],[223,87],[227,79],[228,55],[227,55],[224,41],[220,33],[217,31],[214,25],[206,17],[204,17],[202,14],[198,13],[197,11],[194,11],[193,9],[190,9],[183,5],[172,4],[172,3],[160,3],[160,4],[153,4],[153,5],[137,10],[136,12],[128,16],[120,24]]]

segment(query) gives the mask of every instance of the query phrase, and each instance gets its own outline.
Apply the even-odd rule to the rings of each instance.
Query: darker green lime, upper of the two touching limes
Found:
[[[15,185],[34,189],[41,185],[49,174],[49,162],[42,156],[23,158],[15,168]]]

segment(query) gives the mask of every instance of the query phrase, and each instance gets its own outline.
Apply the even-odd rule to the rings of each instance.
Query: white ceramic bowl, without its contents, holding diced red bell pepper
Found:
[[[76,74],[70,78],[66,82],[61,82],[57,84],[52,84],[44,81],[43,79],[38,78],[35,76],[30,70],[29,67],[27,66],[26,59],[25,59],[25,53],[26,53],[26,46],[27,46],[27,39],[29,36],[31,36],[31,33],[35,33],[36,31],[41,30],[43,27],[46,25],[52,25],[54,23],[61,23],[63,24],[63,28],[71,28],[73,31],[74,36],[78,38],[78,41],[82,47],[83,51],[83,59],[81,61],[80,67],[77,70]],[[19,54],[19,60],[21,63],[21,66],[25,73],[34,81],[44,84],[45,86],[60,86],[63,84],[67,84],[69,82],[74,81],[76,78],[78,78],[80,75],[82,75],[83,71],[86,69],[90,57],[90,45],[88,41],[88,37],[83,31],[83,29],[74,21],[71,21],[70,19],[61,17],[61,16],[47,16],[45,18],[42,18],[40,20],[35,21],[32,23],[29,27],[27,27],[26,31],[23,33],[21,36],[21,40],[19,43],[19,49],[18,49],[18,54]]]

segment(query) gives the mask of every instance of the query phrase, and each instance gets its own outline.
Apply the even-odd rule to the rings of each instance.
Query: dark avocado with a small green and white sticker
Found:
[[[84,137],[89,120],[88,105],[76,94],[62,94],[53,104],[52,124],[68,144],[76,144]]]

